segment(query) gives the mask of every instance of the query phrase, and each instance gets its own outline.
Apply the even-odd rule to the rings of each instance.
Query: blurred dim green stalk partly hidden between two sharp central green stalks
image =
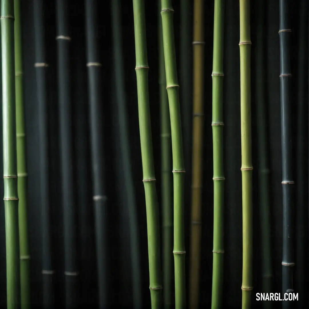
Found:
[[[172,269],[173,259],[173,200],[171,174],[171,122],[168,109],[166,90],[165,62],[163,49],[163,32],[161,21],[161,0],[159,0],[159,88],[161,112],[161,205],[162,205],[162,233],[163,233],[163,302],[164,308],[170,309],[174,303],[172,299]]]

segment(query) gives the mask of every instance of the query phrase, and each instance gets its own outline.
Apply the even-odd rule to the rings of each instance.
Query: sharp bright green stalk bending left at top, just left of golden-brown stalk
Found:
[[[162,0],[161,16],[166,85],[171,119],[171,140],[174,178],[174,265],[175,307],[184,308],[185,295],[185,247],[184,247],[184,155],[182,147],[179,85],[177,78],[176,53],[171,0]]]

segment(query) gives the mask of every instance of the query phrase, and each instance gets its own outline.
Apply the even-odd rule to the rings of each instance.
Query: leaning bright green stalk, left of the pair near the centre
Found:
[[[155,169],[152,149],[149,92],[148,60],[146,44],[146,20],[144,0],[133,0],[134,37],[136,57],[136,80],[138,91],[138,118],[141,139],[143,183],[145,188],[148,260],[151,308],[161,307],[161,265],[159,207],[155,187]]]

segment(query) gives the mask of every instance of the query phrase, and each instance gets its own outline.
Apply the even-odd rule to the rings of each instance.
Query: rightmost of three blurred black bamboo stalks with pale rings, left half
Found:
[[[106,195],[104,180],[103,120],[101,97],[101,63],[97,44],[97,1],[85,0],[88,95],[90,104],[90,135],[95,207],[96,254],[99,281],[99,308],[106,306]]]

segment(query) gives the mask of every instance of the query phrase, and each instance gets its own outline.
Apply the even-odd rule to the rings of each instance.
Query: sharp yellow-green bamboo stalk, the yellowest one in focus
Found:
[[[240,120],[243,200],[242,308],[251,308],[252,294],[252,149],[251,149],[251,39],[250,0],[239,0]]]

